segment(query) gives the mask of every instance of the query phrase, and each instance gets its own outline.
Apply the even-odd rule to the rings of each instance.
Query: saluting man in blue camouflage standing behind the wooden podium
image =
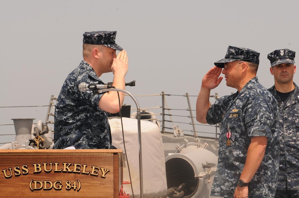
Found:
[[[113,149],[108,112],[117,113],[117,92],[92,94],[81,92],[79,84],[104,84],[99,77],[113,72],[112,86],[125,89],[128,57],[115,43],[116,31],[95,31],[83,34],[83,61],[65,79],[55,106],[54,146],[64,149]],[[120,50],[116,55],[116,50]],[[120,106],[124,93],[119,92]]]

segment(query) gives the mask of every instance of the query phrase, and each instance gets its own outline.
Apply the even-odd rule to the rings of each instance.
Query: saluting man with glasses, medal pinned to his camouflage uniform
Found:
[[[279,133],[273,95],[256,76],[258,52],[228,47],[224,59],[202,79],[196,120],[221,123],[219,157],[211,196],[274,198],[278,177]],[[222,68],[224,68],[222,70]],[[211,105],[210,90],[222,81],[238,91]]]

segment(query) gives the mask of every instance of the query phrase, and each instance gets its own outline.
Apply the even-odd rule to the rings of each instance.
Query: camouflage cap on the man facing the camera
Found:
[[[277,49],[268,54],[268,59],[270,60],[271,67],[282,63],[295,63],[295,53],[289,49]]]

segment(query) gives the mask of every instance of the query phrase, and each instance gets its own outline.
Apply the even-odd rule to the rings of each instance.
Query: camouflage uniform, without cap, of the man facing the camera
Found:
[[[294,83],[295,84],[295,83]],[[269,91],[274,95],[279,111],[280,165],[277,190],[299,191],[299,87],[286,105],[277,95],[275,86]],[[281,197],[281,196],[280,196]]]

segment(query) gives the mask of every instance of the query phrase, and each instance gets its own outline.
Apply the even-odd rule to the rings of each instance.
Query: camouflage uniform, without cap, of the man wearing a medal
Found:
[[[252,137],[268,137],[264,159],[249,183],[248,197],[273,198],[278,173],[279,135],[277,105],[271,93],[257,77],[233,95],[216,100],[206,120],[221,123],[219,157],[211,196],[233,197],[245,165]],[[226,146],[226,132],[231,131],[231,146]]]

